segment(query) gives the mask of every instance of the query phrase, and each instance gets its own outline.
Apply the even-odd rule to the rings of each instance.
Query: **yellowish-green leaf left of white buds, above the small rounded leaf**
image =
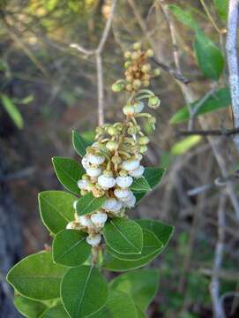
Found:
[[[74,220],[73,202],[77,198],[63,191],[43,191],[38,195],[41,219],[53,234]]]

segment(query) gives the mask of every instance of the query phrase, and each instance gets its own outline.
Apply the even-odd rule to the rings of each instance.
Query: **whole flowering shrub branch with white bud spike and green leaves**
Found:
[[[53,158],[56,176],[70,193],[39,194],[52,248],[26,257],[7,276],[16,292],[15,305],[26,317],[34,317],[28,309],[33,313],[40,305],[39,317],[144,317],[157,291],[158,271],[138,268],[161,253],[173,228],[153,220],[132,220],[128,213],[164,174],[163,169],[141,163],[149,139],[138,119],[145,118],[154,129],[156,118],[143,110],[146,103],[153,110],[161,104],[147,88],[160,74],[152,70],[150,57],[153,50],[144,51],[139,43],[125,52],[125,78],[112,86],[114,92],[128,95],[123,122],[97,127],[93,143],[73,132],[81,164]],[[102,269],[138,270],[108,284]]]

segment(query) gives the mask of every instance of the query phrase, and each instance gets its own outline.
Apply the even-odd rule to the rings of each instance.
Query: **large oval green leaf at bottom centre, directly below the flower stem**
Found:
[[[108,284],[98,269],[72,268],[63,276],[61,298],[71,318],[85,318],[105,306]]]

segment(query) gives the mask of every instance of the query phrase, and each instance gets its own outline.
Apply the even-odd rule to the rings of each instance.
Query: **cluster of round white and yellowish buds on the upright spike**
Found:
[[[141,52],[141,55],[138,53],[138,58],[145,64],[149,53],[149,50],[147,53]],[[137,63],[136,58],[134,62]],[[69,223],[67,228],[86,231],[86,242],[91,246],[101,243],[101,231],[108,218],[123,217],[127,208],[136,205],[131,185],[135,178],[144,174],[145,167],[141,160],[149,142],[137,119],[145,117],[153,127],[156,123],[155,117],[142,113],[145,108],[144,99],[150,108],[156,109],[160,105],[160,99],[152,91],[135,88],[123,106],[125,120],[97,127],[95,142],[86,148],[86,155],[81,161],[86,170],[86,174],[78,180],[81,195],[92,193],[95,198],[105,197],[106,200],[102,207],[91,215],[78,216],[76,213],[75,221]],[[76,204],[74,208],[76,209]]]

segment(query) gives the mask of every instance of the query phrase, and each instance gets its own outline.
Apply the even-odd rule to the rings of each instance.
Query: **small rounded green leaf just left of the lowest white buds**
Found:
[[[63,230],[56,234],[52,246],[53,261],[76,267],[83,264],[91,254],[86,243],[86,233],[78,230]]]

